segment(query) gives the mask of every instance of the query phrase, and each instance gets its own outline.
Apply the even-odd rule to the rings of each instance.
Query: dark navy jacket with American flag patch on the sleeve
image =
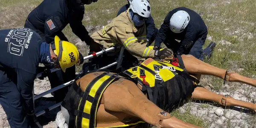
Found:
[[[82,41],[87,42],[90,36],[82,24],[84,6],[74,5],[71,0],[44,0],[32,12],[27,20],[33,27],[45,34],[49,44],[55,35],[61,32],[69,23],[72,31]],[[73,0],[76,1],[76,0]]]

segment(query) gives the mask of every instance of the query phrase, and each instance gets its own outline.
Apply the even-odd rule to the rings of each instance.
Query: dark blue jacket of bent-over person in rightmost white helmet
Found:
[[[183,32],[174,33],[170,29],[170,19],[175,12],[180,10],[186,11],[189,14],[189,24],[186,29],[183,30]],[[163,41],[165,41],[166,39],[180,40],[181,45],[185,46],[191,41],[195,43],[195,41],[197,41],[205,34],[207,34],[207,26],[205,25],[204,20],[201,18],[201,16],[191,9],[179,7],[170,11],[165,17],[163,24],[161,25],[161,28],[159,29],[159,32],[155,39],[154,46],[160,47],[160,44],[163,43]]]

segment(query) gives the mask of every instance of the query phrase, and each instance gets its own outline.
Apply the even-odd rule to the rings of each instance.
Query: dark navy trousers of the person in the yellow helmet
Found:
[[[17,89],[15,73],[0,69],[0,104],[7,115],[11,128],[31,128],[23,110],[22,97]]]

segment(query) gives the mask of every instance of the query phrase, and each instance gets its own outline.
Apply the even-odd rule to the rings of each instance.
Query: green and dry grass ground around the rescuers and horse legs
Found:
[[[23,27],[26,17],[42,0],[0,0],[0,29]],[[179,6],[188,7],[201,15],[208,28],[208,37],[204,48],[210,41],[216,42],[215,51],[209,64],[215,67],[237,71],[244,70],[241,75],[251,77],[256,74],[256,2],[255,0],[150,0],[152,17],[159,29],[168,12]],[[116,17],[119,8],[126,4],[126,0],[99,0],[97,3],[85,5],[84,26],[105,26],[109,20]],[[235,32],[237,31],[237,32]],[[70,42],[76,44],[78,37],[73,34],[70,26],[63,30]],[[249,37],[249,35],[250,36]],[[92,33],[90,33],[92,34]],[[222,45],[221,41],[228,41],[230,45]],[[230,52],[235,51],[235,52]],[[87,53],[83,53],[86,55]],[[79,67],[80,69],[81,67]],[[219,78],[202,76],[201,79],[221,90],[223,81]],[[207,84],[203,82],[201,84]],[[204,85],[203,85],[204,86]],[[201,106],[207,107],[207,106]],[[204,126],[204,121],[189,112],[181,114],[172,112],[183,121]]]

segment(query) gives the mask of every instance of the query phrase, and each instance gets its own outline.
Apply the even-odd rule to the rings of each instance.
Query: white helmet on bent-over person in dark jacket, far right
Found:
[[[172,15],[170,19],[170,29],[172,32],[180,33],[189,24],[189,14],[186,11],[180,10]]]

